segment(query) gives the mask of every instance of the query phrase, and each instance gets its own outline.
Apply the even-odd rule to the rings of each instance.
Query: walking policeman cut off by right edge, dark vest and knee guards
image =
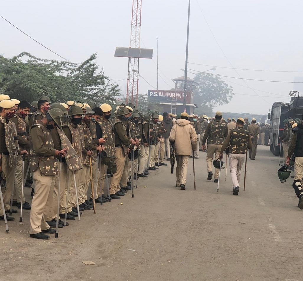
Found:
[[[295,179],[292,187],[295,189],[295,193],[299,198],[298,207],[303,210],[303,125],[298,124],[292,130],[291,142],[288,149],[288,155],[286,158],[286,166],[289,166],[290,158],[294,153],[295,156]]]

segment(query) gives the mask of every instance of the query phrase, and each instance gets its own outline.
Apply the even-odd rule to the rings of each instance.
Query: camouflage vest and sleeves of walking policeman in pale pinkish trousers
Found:
[[[250,149],[252,147],[249,132],[240,127],[231,129],[223,146],[221,147],[221,152],[225,151],[227,147],[229,148],[229,153],[245,154],[247,148]]]

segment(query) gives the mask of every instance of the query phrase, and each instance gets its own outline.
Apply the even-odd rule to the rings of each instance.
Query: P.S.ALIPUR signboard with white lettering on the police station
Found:
[[[171,103],[172,99],[177,100],[177,103],[183,104],[183,91],[177,90],[148,90],[147,91],[147,100],[155,101],[158,103],[166,102]],[[186,91],[186,103],[191,103],[191,93]]]

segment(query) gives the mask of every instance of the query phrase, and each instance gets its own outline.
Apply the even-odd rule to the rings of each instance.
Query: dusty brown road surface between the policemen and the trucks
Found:
[[[233,196],[229,171],[216,192],[199,154],[196,191],[192,159],[185,191],[175,187],[170,166],[161,167],[138,181],[134,198],[128,192],[97,205],[97,214],[84,211],[59,229],[59,239],[29,238],[29,211],[22,223],[15,214],[8,234],[0,222],[0,280],[303,280],[303,211],[292,179],[278,179],[278,157],[258,146],[246,190],[242,180]],[[90,260],[95,265],[82,263]]]

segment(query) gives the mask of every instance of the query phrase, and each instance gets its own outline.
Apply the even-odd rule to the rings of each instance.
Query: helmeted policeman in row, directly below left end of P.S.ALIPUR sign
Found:
[[[148,172],[145,172],[145,166],[148,162],[148,154],[149,154],[149,120],[151,119],[151,115],[149,113],[144,113],[142,116],[142,139],[141,139],[141,150],[139,155],[139,169],[138,169],[138,177],[147,178]],[[141,125],[139,125],[141,126]]]

